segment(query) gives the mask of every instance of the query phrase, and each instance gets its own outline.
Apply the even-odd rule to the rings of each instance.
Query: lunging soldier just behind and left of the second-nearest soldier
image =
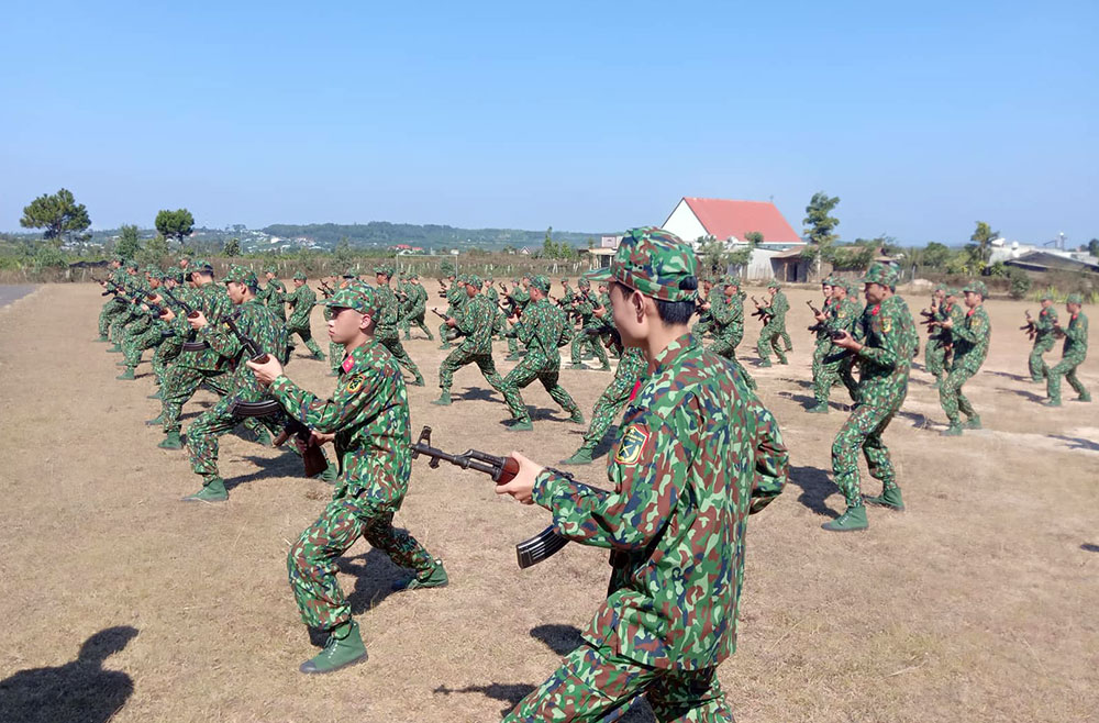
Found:
[[[286,326],[274,312],[256,297],[259,281],[256,275],[241,266],[230,269],[224,279],[230,300],[235,304],[233,323],[246,338],[255,342],[260,351],[279,362],[286,362]],[[195,423],[187,427],[187,447],[191,454],[191,469],[202,477],[202,489],[184,498],[185,502],[224,502],[229,499],[225,481],[218,474],[218,438],[231,432],[247,419],[258,420],[270,434],[278,434],[278,418],[243,418],[233,414],[230,407],[237,401],[257,402],[265,391],[255,375],[244,365],[249,358],[248,351],[236,334],[230,331],[223,319],[207,319],[201,313],[188,319],[191,329],[202,334],[210,347],[229,359],[232,377],[226,381],[225,396],[211,409],[202,412]],[[265,435],[266,436],[266,435]],[[269,437],[268,437],[269,438]],[[321,477],[335,481],[335,471],[329,467]]]

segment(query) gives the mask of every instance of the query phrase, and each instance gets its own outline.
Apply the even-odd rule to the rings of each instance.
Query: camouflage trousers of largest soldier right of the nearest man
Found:
[[[847,501],[847,507],[863,504],[858,482],[858,452],[866,456],[870,477],[880,479],[885,489],[897,487],[889,449],[881,442],[881,434],[892,421],[896,409],[857,404],[847,421],[840,427],[832,443],[832,478]]]

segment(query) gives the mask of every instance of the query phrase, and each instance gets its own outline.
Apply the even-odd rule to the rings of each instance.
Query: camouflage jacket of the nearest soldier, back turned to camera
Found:
[[[584,637],[646,666],[715,666],[736,647],[751,498],[786,483],[778,424],[740,372],[687,334],[654,359],[622,429],[613,491],[553,469],[534,485],[558,533],[613,550],[607,600]]]

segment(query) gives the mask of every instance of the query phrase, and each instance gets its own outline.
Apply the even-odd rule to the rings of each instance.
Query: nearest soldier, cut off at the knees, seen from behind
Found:
[[[497,488],[550,510],[556,533],[611,550],[582,644],[508,723],[617,720],[639,696],[658,721],[733,720],[717,668],[736,647],[745,526],[781,491],[789,460],[775,418],[689,332],[696,263],[652,227],[629,232],[611,262],[615,322],[653,370],[608,465],[613,491],[518,453],[519,474]]]

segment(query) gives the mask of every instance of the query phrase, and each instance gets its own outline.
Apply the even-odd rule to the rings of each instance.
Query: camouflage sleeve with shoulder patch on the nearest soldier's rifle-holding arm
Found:
[[[633,410],[631,410],[633,411]],[[664,529],[679,503],[687,464],[675,430],[647,412],[628,415],[608,476],[617,492],[578,485],[559,472],[542,471],[534,502],[553,513],[564,537],[597,547],[643,549]]]

